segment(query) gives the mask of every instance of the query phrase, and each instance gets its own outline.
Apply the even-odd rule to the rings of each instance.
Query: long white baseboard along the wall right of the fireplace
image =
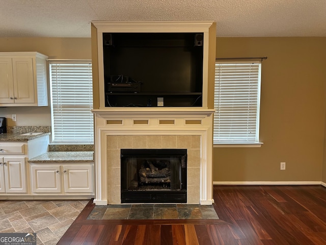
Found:
[[[323,185],[321,181],[213,181],[213,185]]]

